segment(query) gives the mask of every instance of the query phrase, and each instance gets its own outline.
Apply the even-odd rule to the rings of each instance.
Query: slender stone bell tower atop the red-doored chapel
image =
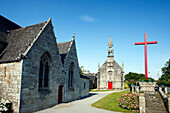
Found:
[[[112,43],[112,40],[111,40],[111,36],[110,36],[110,39],[109,39],[107,52],[108,52],[107,61],[112,62],[114,55],[113,55],[113,43]]]

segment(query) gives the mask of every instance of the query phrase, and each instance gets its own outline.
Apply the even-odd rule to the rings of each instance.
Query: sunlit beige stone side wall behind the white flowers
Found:
[[[14,112],[19,112],[22,61],[0,64],[0,98],[12,102]]]

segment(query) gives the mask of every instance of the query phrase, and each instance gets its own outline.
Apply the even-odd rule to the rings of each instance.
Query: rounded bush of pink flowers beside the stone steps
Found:
[[[139,112],[139,99],[136,92],[124,94],[118,101],[122,108],[133,112]]]

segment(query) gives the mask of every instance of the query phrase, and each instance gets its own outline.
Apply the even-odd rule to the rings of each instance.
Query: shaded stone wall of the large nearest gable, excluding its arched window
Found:
[[[49,86],[47,91],[38,91],[40,58],[50,55]],[[33,112],[58,104],[59,86],[64,86],[61,58],[56,45],[51,21],[40,34],[23,60],[20,112]],[[64,100],[64,89],[63,89]]]

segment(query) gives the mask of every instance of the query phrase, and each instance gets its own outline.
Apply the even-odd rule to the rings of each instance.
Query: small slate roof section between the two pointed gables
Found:
[[[61,56],[62,64],[64,64],[64,59],[66,58],[70,44],[71,44],[71,41],[63,42],[63,43],[57,43],[57,46],[58,46],[58,49],[59,49],[59,54]]]

